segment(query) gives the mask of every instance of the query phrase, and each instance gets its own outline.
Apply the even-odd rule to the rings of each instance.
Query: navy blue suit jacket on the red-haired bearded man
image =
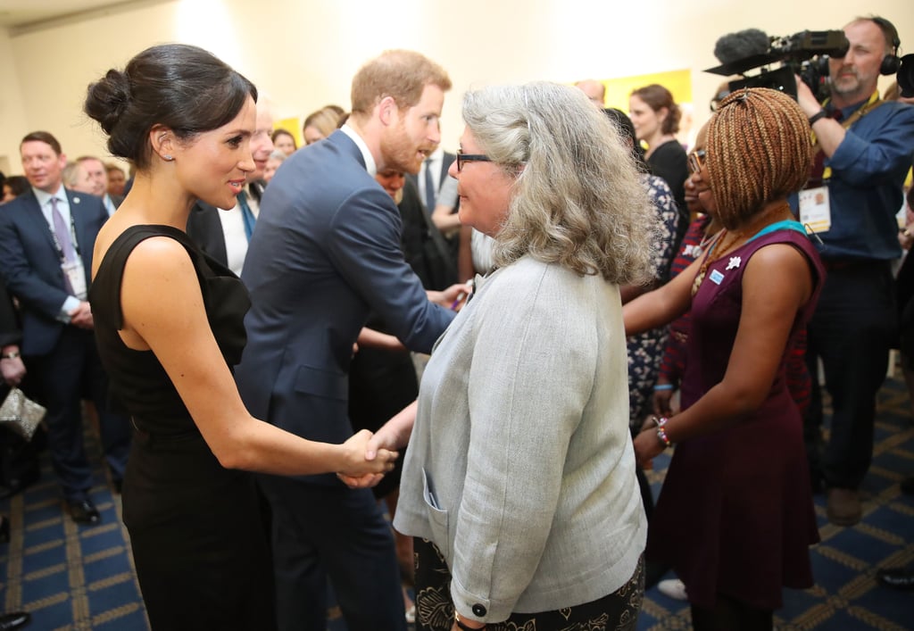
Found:
[[[252,303],[236,370],[245,404],[331,443],[352,434],[349,362],[368,312],[426,352],[454,315],[428,301],[403,260],[399,210],[342,132],[295,152],[273,177],[241,280]]]

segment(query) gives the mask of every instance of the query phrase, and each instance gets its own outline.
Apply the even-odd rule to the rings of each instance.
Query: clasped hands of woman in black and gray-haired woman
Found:
[[[376,433],[361,430],[347,440],[343,446],[353,463],[353,468],[336,474],[347,487],[371,488],[393,470],[399,457],[399,450],[409,443],[412,424],[416,420],[417,402],[413,401],[392,419],[384,423]]]

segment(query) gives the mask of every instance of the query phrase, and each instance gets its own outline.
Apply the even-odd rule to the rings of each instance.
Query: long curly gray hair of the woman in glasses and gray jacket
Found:
[[[651,279],[652,202],[631,150],[582,91],[547,82],[470,91],[463,120],[515,177],[496,265],[529,254],[611,283]]]

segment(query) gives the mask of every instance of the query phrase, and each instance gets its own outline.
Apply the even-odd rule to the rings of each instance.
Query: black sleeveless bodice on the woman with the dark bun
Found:
[[[128,348],[118,335],[123,326],[123,268],[133,248],[150,237],[174,239],[190,255],[209,326],[229,368],[239,362],[247,342],[244,315],[250,308],[250,298],[238,276],[200,251],[186,233],[171,226],[132,226],[124,230],[105,253],[95,274],[89,300],[96,341],[108,372],[115,409],[131,414],[133,422],[143,432],[197,432],[184,402],[154,353]],[[169,295],[159,298],[166,303],[175,300],[175,296]]]

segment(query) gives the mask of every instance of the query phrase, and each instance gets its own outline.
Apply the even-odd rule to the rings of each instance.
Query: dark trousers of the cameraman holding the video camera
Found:
[[[810,472],[822,476],[829,487],[856,489],[869,469],[876,396],[886,378],[897,320],[888,262],[829,267],[808,327],[806,362],[813,392],[803,427]],[[828,444],[822,439],[818,358],[822,358],[834,410]]]

